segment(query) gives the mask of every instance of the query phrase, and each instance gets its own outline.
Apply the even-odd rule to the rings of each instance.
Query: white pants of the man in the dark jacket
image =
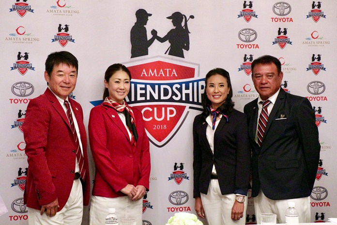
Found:
[[[267,198],[260,190],[259,195],[254,197],[257,224],[261,224],[261,213],[275,213],[277,215],[276,223],[285,224],[288,202],[295,203],[295,209],[298,211],[299,223],[310,223],[310,196],[304,198],[272,200]]]

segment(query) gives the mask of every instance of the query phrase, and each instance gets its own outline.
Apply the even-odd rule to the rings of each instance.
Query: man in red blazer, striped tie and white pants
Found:
[[[80,225],[83,204],[89,203],[83,112],[68,98],[76,86],[77,70],[77,58],[70,52],[51,53],[46,59],[48,88],[27,107],[23,131],[29,166],[24,202],[29,224]]]

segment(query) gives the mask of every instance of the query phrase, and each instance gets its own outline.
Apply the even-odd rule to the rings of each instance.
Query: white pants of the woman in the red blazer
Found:
[[[132,201],[128,196],[106,198],[92,195],[90,203],[90,225],[105,224],[108,208],[115,208],[119,220],[124,218],[136,219],[137,225],[142,225],[143,199]]]

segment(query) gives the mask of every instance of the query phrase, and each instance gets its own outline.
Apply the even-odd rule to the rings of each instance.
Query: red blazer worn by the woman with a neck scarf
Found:
[[[117,111],[105,104],[92,108],[90,112],[89,140],[96,165],[92,194],[102,197],[125,196],[120,190],[127,184],[143,185],[149,190],[149,139],[141,112],[131,108],[138,132],[135,146],[131,145]]]

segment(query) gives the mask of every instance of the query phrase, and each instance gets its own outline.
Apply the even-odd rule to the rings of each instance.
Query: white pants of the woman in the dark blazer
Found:
[[[231,219],[231,209],[235,202],[236,194],[222,195],[217,179],[211,179],[207,194],[201,193],[201,202],[208,225],[244,225],[247,209],[245,197],[244,216],[240,220]]]

